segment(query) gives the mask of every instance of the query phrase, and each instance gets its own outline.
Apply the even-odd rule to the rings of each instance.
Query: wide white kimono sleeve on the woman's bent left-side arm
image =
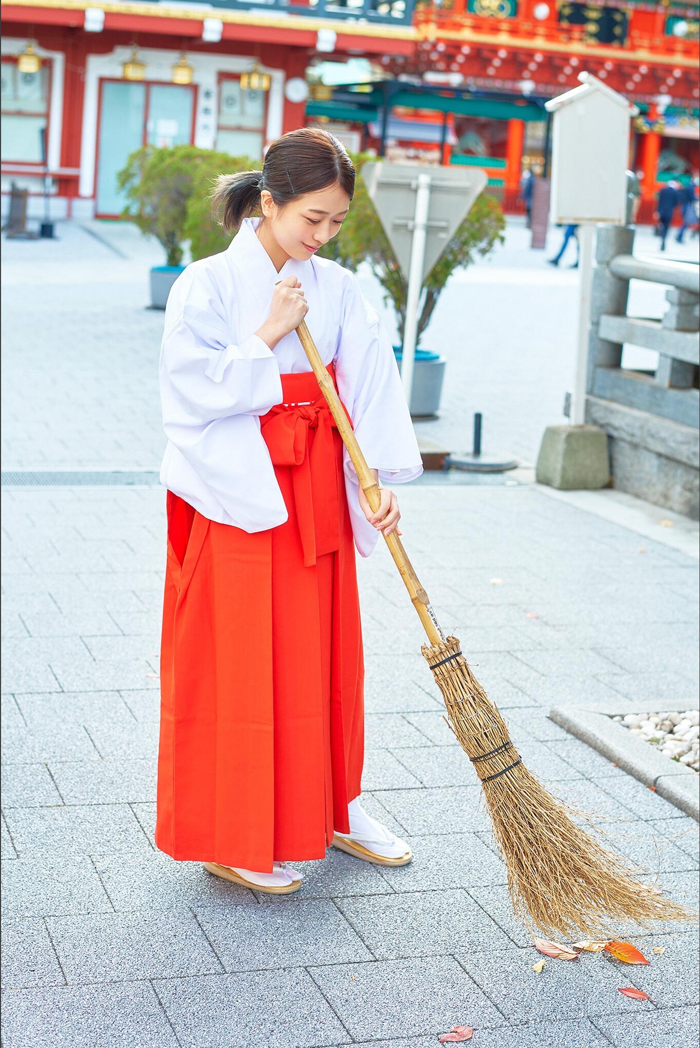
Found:
[[[204,516],[260,531],[287,519],[258,419],[282,401],[282,379],[262,339],[232,341],[223,298],[233,289],[219,289],[210,262],[188,266],[168,299],[160,479]]]

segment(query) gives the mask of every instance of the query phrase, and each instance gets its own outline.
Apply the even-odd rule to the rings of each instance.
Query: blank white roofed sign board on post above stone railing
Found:
[[[553,113],[551,218],[624,225],[630,119],[638,110],[589,73],[578,79],[581,87],[545,104]]]

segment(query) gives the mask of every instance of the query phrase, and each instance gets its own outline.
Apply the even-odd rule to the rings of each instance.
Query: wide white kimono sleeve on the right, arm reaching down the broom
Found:
[[[379,481],[401,484],[423,472],[418,442],[394,356],[379,314],[363,294],[354,274],[347,270],[342,324],[335,354],[341,399],[348,409],[357,442]],[[357,475],[345,452],[346,488],[355,543],[369,555],[378,532],[357,502]]]

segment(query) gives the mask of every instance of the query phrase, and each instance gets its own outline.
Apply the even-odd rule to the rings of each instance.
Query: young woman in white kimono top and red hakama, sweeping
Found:
[[[176,859],[288,894],[288,860],[333,845],[390,866],[404,842],[359,805],[363,646],[355,576],[399,520],[370,509],[296,328],[306,320],[370,467],[420,454],[389,339],[352,272],[314,255],[355,171],[320,128],[262,172],[221,175],[220,255],[173,285],[160,354],[168,566],[155,840]],[[261,211],[262,218],[253,218]],[[353,544],[354,543],[354,544]]]

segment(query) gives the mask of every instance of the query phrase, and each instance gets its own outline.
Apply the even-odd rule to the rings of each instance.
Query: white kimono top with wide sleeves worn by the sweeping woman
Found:
[[[290,275],[309,305],[305,318],[324,364],[335,365],[341,399],[368,465],[401,483],[422,473],[391,342],[349,269],[329,259],[288,259],[278,272],[246,218],[225,252],[192,262],[166,308],[160,398],[168,445],[161,483],[203,517],[244,531],[287,520],[259,416],[282,402],[281,373],[310,371],[296,331],[271,350],[254,332],[269,315],[278,281]],[[379,532],[357,501],[347,451],[346,493],[363,556]]]

